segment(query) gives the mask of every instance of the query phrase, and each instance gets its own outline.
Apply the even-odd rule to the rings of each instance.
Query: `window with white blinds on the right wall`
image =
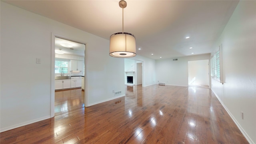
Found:
[[[221,81],[221,60],[220,60],[220,48],[218,51],[211,56],[211,76],[215,80],[222,82]]]

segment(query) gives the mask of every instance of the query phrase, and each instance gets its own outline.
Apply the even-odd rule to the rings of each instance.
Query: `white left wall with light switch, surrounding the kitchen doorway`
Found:
[[[124,95],[124,59],[109,56],[109,40],[2,1],[0,10],[1,132],[50,118],[52,33],[86,43],[87,106],[115,98],[112,90]]]

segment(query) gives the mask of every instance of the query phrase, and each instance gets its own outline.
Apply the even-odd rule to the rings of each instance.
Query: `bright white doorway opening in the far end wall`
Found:
[[[188,86],[209,88],[209,60],[188,61]]]

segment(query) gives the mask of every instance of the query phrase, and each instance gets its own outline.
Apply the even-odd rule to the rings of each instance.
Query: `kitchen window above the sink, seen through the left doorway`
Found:
[[[55,59],[55,74],[68,74],[70,60]]]

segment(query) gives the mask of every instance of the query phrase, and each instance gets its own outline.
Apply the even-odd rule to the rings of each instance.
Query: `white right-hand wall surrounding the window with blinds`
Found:
[[[212,91],[244,136],[256,144],[256,1],[238,3],[212,54],[221,44],[224,84],[212,80]]]

